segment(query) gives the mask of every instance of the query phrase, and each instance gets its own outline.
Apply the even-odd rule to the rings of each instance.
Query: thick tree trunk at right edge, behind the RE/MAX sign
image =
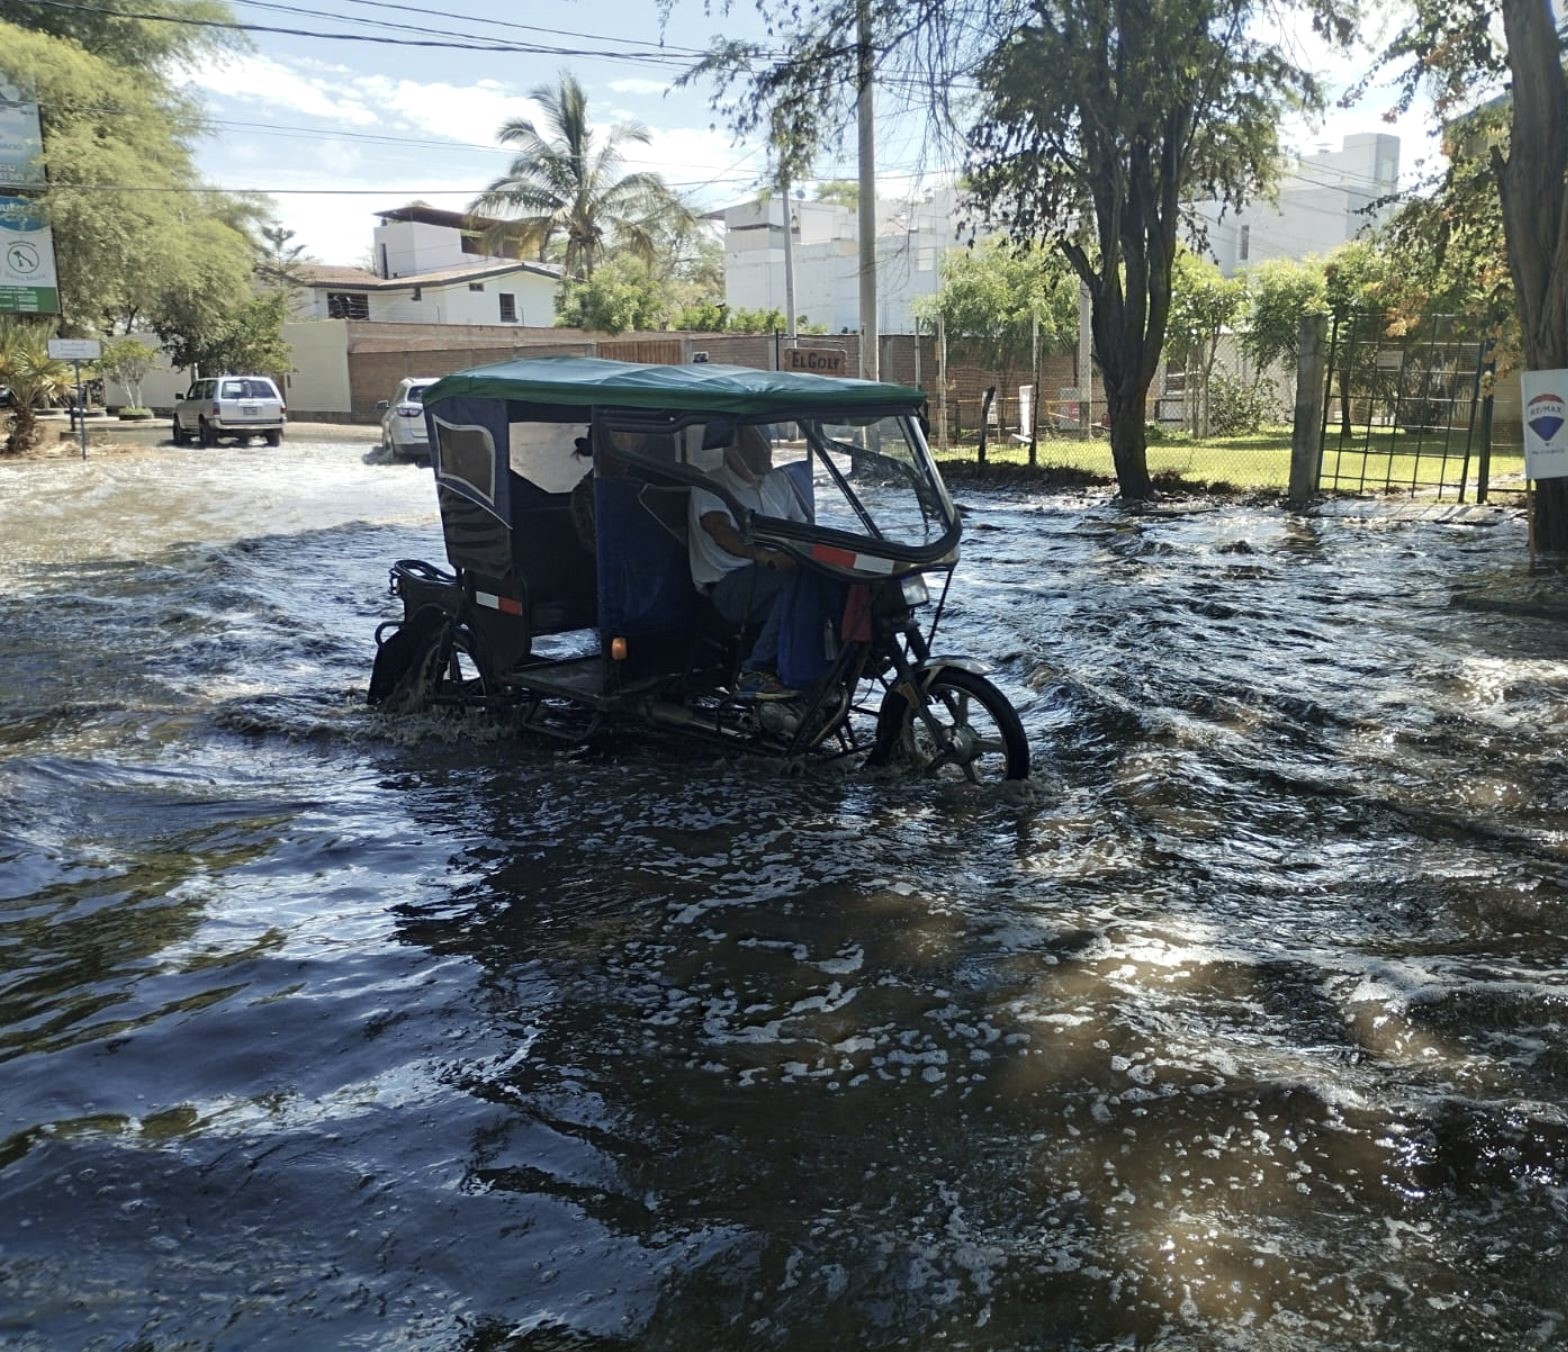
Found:
[[[1513,77],[1508,158],[1493,154],[1508,270],[1530,370],[1568,367],[1568,85],[1543,0],[1502,0]],[[1568,551],[1568,480],[1537,486],[1535,547]]]

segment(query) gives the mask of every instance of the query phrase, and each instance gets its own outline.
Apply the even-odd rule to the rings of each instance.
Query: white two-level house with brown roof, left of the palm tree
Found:
[[[561,270],[486,253],[494,221],[414,204],[378,212],[376,270],[301,263],[298,318],[425,325],[555,323]]]

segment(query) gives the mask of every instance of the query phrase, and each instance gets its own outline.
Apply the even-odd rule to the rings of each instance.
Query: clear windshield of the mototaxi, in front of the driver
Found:
[[[775,463],[811,461],[817,529],[903,547],[936,544],[952,529],[956,510],[911,419],[818,419],[775,431]]]

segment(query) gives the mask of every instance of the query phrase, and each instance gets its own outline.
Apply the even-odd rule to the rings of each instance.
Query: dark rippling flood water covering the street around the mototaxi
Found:
[[[1568,1346],[1568,583],[961,486],[1032,792],[362,704],[428,471],[0,466],[0,1344]]]

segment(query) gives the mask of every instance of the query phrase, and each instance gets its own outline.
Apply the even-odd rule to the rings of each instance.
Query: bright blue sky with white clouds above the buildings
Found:
[[[750,0],[739,0],[728,17],[706,14],[701,0],[676,0],[663,35],[652,0],[230,3],[240,22],[276,28],[441,41],[472,35],[491,44],[619,53],[458,52],[252,33],[249,52],[190,72],[213,121],[213,135],[198,155],[204,177],[223,188],[271,193],[279,221],[321,262],[364,262],[376,210],[416,198],[453,210],[466,207],[506,166],[510,155],[495,144],[497,129],[508,118],[533,116],[528,91],[554,83],[563,69],[586,89],[596,122],[638,121],[652,133],[651,144],[632,147],[627,166],[663,174],[702,209],[746,199],[767,168],[764,147],[735,141],[709,108],[709,88],[671,89],[687,53],[715,35],[760,31]],[[405,27],[381,27],[392,24]],[[1330,56],[1306,36],[1300,49],[1341,80],[1369,64],[1364,56],[1348,63]],[[1419,111],[1386,125],[1380,114],[1388,102],[1375,93],[1319,125],[1290,125],[1287,140],[1311,151],[1338,147],[1350,132],[1391,130],[1402,136],[1408,171],[1422,154],[1428,118]],[[878,113],[884,193],[952,174],[956,166],[922,141],[919,121],[900,116],[892,94],[881,96]],[[853,133],[848,144],[853,147]],[[853,160],[823,162],[818,173],[853,176]]]

